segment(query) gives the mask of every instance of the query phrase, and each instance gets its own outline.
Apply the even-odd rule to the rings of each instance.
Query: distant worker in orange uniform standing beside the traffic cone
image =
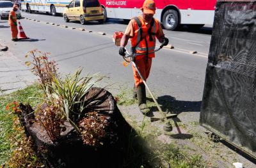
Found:
[[[17,4],[13,5],[13,9],[9,13],[9,24],[12,31],[12,41],[18,41],[18,28],[17,28],[17,17],[15,11],[18,10]]]

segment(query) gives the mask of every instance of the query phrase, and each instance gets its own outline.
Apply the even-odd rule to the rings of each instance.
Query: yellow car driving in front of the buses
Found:
[[[63,12],[65,22],[79,20],[81,24],[97,20],[104,22],[104,15],[98,0],[74,0],[68,4]]]

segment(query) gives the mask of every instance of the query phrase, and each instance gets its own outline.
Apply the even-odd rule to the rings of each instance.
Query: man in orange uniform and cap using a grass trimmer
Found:
[[[168,45],[169,40],[164,37],[160,22],[153,17],[156,12],[155,2],[153,0],[145,0],[141,11],[142,15],[132,18],[127,25],[124,36],[121,39],[119,54],[122,56],[125,55],[125,46],[127,45],[128,39],[131,39],[132,52],[145,53],[145,55],[137,55],[134,62],[138,66],[144,80],[147,80],[152,58],[155,57],[156,38],[164,46]],[[135,81],[134,97],[138,99],[138,106],[141,113],[147,114],[150,109],[146,103],[145,85],[134,66],[132,66],[132,70]]]

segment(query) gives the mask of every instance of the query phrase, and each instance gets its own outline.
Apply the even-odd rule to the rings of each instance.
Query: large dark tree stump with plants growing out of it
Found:
[[[125,122],[115,99],[107,90],[91,88],[85,99],[88,102],[97,101],[93,111],[115,120],[118,125],[118,141],[115,144],[104,144],[99,148],[86,146],[80,134],[68,122],[65,122],[66,130],[61,132],[60,140],[53,143],[42,124],[35,121],[31,106],[20,104],[20,122],[27,136],[31,136],[33,148],[45,167],[122,167],[127,132],[130,132],[131,127]],[[91,111],[92,107],[85,110]]]

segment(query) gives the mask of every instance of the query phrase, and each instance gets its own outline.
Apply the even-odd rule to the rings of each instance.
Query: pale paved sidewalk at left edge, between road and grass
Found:
[[[0,39],[1,46],[5,45]],[[34,74],[25,66],[25,57],[24,60],[19,60],[9,50],[0,50],[0,95],[25,88],[35,80]]]

